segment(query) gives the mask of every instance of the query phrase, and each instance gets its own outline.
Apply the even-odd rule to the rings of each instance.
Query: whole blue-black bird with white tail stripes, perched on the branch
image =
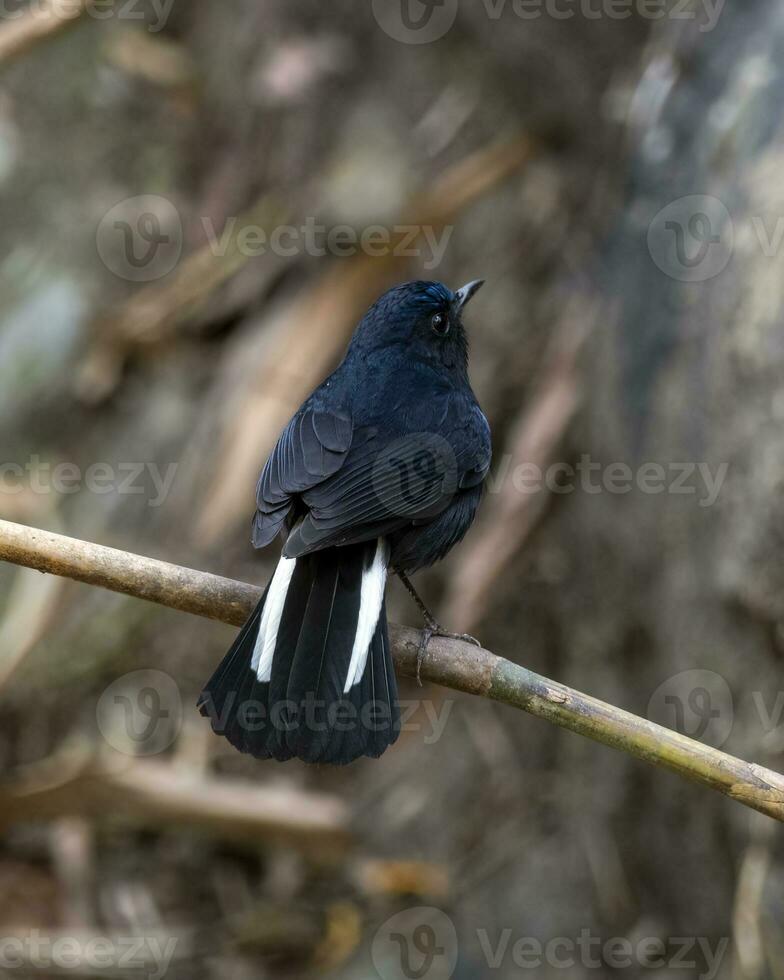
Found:
[[[462,323],[481,285],[385,293],[267,461],[252,540],[283,533],[283,555],[199,698],[240,751],[344,764],[397,739],[387,569],[419,601],[407,574],[460,541],[490,467]],[[445,631],[419,604],[426,644]]]

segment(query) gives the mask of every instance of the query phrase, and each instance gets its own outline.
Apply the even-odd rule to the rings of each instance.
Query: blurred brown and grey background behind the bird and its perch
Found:
[[[0,518],[263,584],[353,325],[484,277],[494,470],[424,597],[780,771],[783,55],[776,0],[6,0]],[[784,977],[767,818],[408,680],[382,760],[257,763],[194,707],[234,630],[0,588],[9,975]]]

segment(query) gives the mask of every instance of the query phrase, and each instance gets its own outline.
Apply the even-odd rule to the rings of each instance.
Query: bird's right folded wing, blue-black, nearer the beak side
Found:
[[[455,494],[480,484],[490,465],[487,420],[473,398],[449,392],[418,402],[400,428],[355,431],[338,469],[302,493],[308,513],[288,557],[427,524]]]

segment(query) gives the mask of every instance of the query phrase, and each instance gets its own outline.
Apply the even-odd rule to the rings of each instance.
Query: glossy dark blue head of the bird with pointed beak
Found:
[[[406,282],[394,286],[368,310],[352,347],[365,354],[402,346],[414,357],[448,369],[465,371],[468,340],[462,314],[482,286],[474,279],[452,292],[440,282]]]

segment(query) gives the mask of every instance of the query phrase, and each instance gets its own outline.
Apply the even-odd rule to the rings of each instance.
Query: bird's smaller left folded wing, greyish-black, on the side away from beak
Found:
[[[256,487],[253,544],[262,548],[283,527],[293,497],[335,474],[351,447],[353,424],[347,411],[306,402],[278,439]]]

